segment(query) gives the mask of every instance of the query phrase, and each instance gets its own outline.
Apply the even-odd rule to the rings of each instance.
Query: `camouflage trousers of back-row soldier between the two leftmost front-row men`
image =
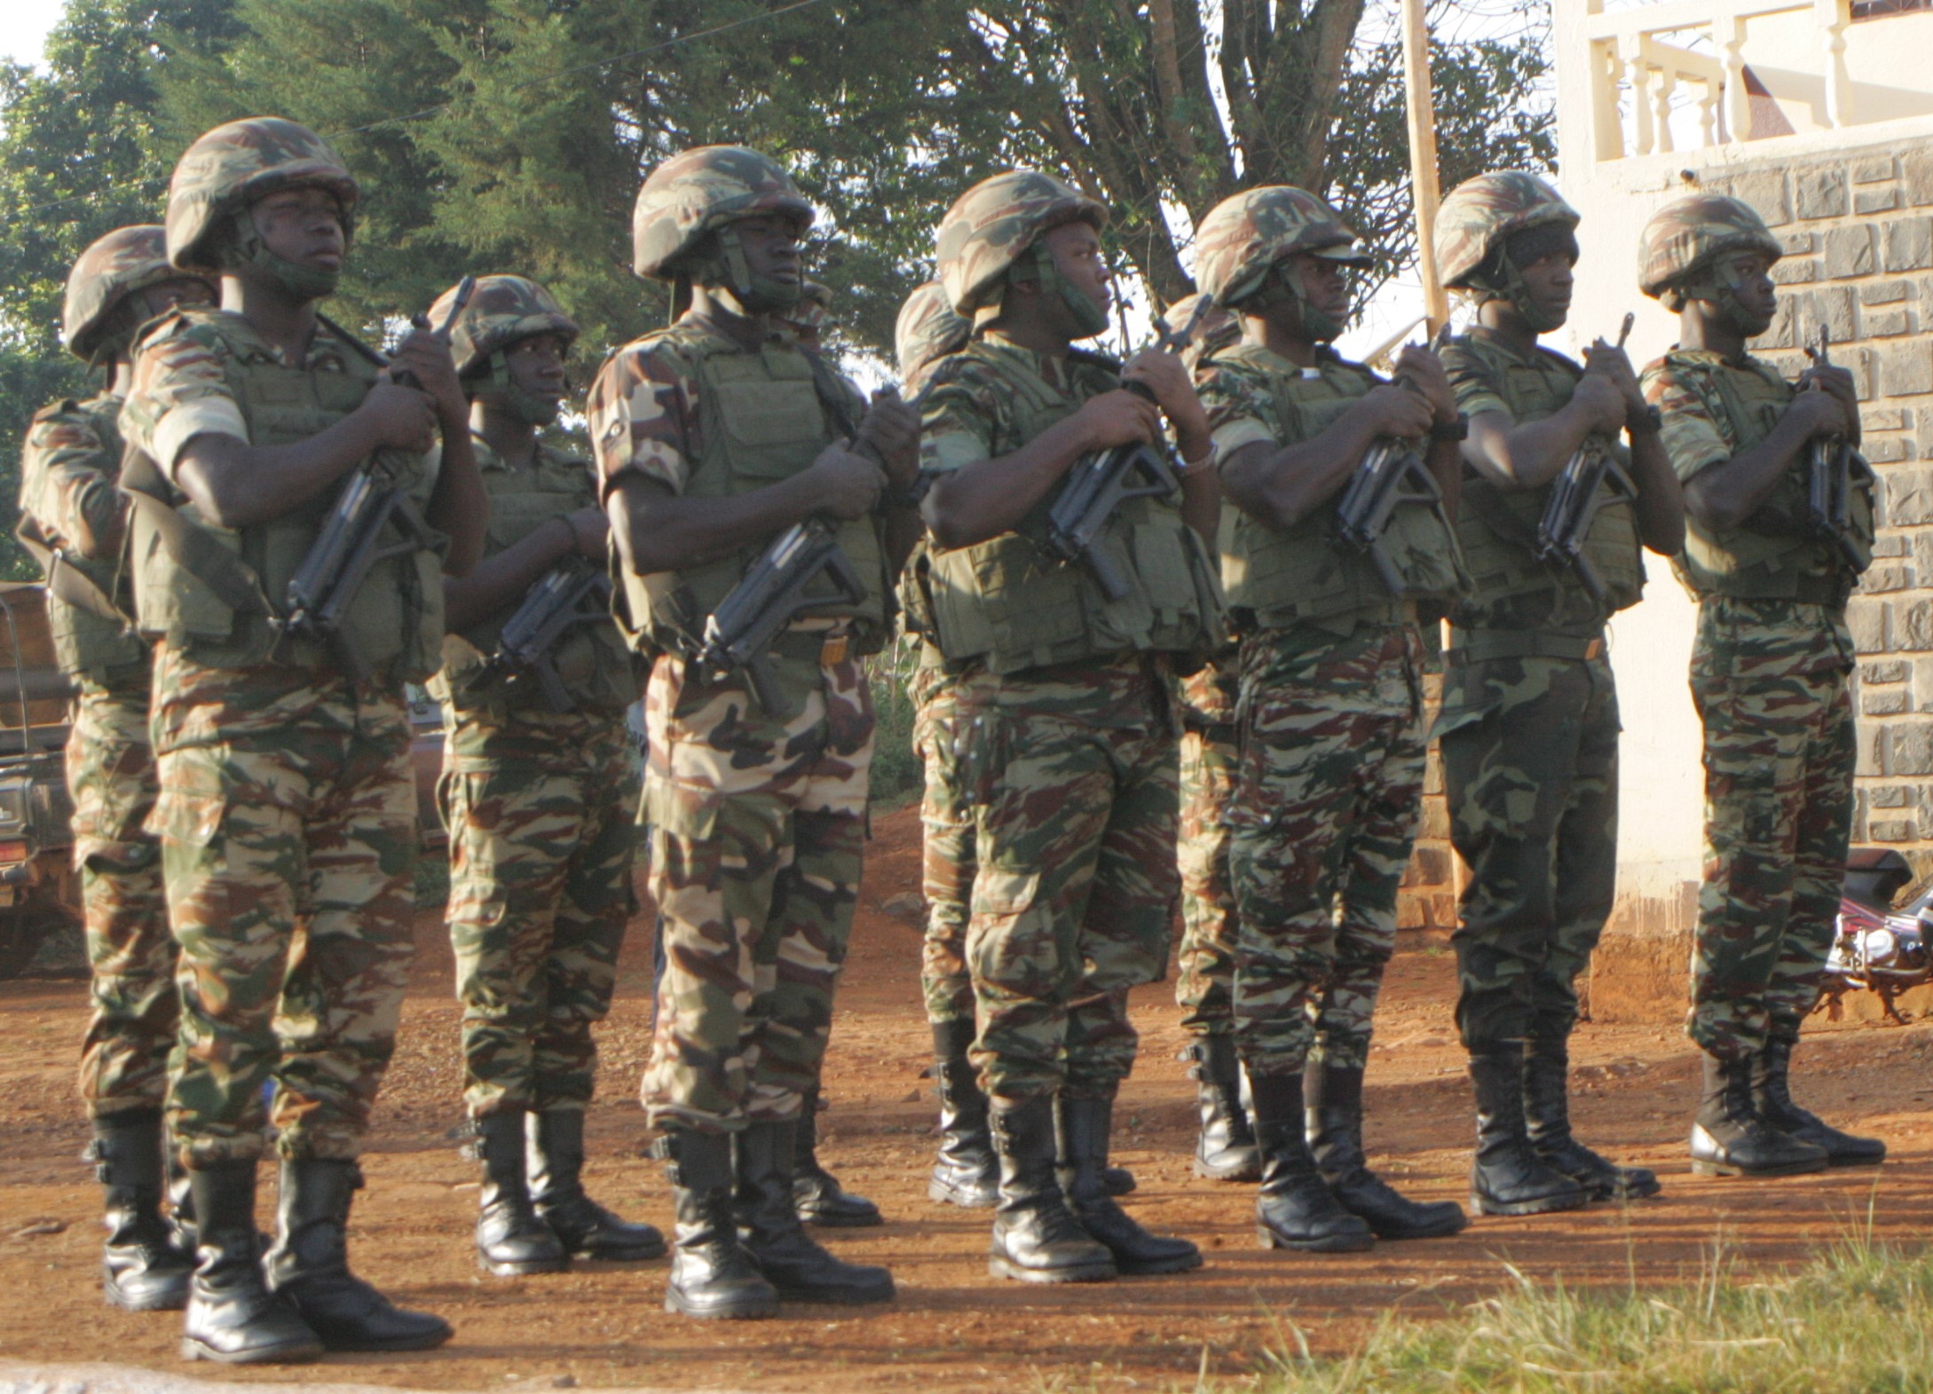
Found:
[[[464,1102],[582,1108],[630,918],[638,787],[624,727],[582,713],[445,708],[450,949]]]

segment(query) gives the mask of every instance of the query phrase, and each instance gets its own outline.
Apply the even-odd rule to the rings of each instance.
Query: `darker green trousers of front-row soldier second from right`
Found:
[[[1610,916],[1618,692],[1602,640],[1577,640],[1575,652],[1448,655],[1436,735],[1450,837],[1469,866],[1452,944],[1456,1019],[1473,1050],[1566,1038],[1577,974]]]

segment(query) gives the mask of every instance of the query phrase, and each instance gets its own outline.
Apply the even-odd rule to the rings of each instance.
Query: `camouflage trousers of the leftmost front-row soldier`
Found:
[[[387,686],[155,659],[155,758],[189,1166],[354,1158],[396,1044],[416,874],[410,721]]]

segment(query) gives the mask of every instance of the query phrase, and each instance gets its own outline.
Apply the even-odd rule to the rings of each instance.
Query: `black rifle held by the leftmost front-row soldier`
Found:
[[[456,286],[448,315],[437,325],[439,334],[448,338],[456,317],[470,304],[476,290],[476,276],[464,276]],[[418,317],[418,327],[423,327]],[[421,387],[414,373],[398,373],[396,381]],[[309,551],[288,578],[282,632],[288,638],[327,644],[336,653],[336,663],[354,682],[369,677],[369,663],[342,630],[342,617],[356,601],[369,572],[385,561],[408,557],[416,551],[435,551],[441,541],[416,501],[394,483],[394,474],[385,458],[387,452],[369,456],[356,466],[342,493],[336,495],[334,508],[323,522]],[[383,541],[385,530],[394,522],[396,541]]]

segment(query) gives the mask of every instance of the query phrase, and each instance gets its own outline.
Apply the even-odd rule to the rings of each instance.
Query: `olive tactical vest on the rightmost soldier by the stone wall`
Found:
[[[1792,385],[1755,358],[1747,358],[1744,367],[1713,363],[1703,354],[1672,354],[1666,362],[1711,385],[1738,441],[1734,454],[1771,435],[1792,402]],[[1686,516],[1686,549],[1674,566],[1695,595],[1844,599],[1873,561],[1873,470],[1854,456],[1846,497],[1846,536],[1860,557],[1854,565],[1838,543],[1815,537],[1805,522],[1807,458],[1809,450],[1800,450],[1765,503],[1738,528],[1713,532]]]

